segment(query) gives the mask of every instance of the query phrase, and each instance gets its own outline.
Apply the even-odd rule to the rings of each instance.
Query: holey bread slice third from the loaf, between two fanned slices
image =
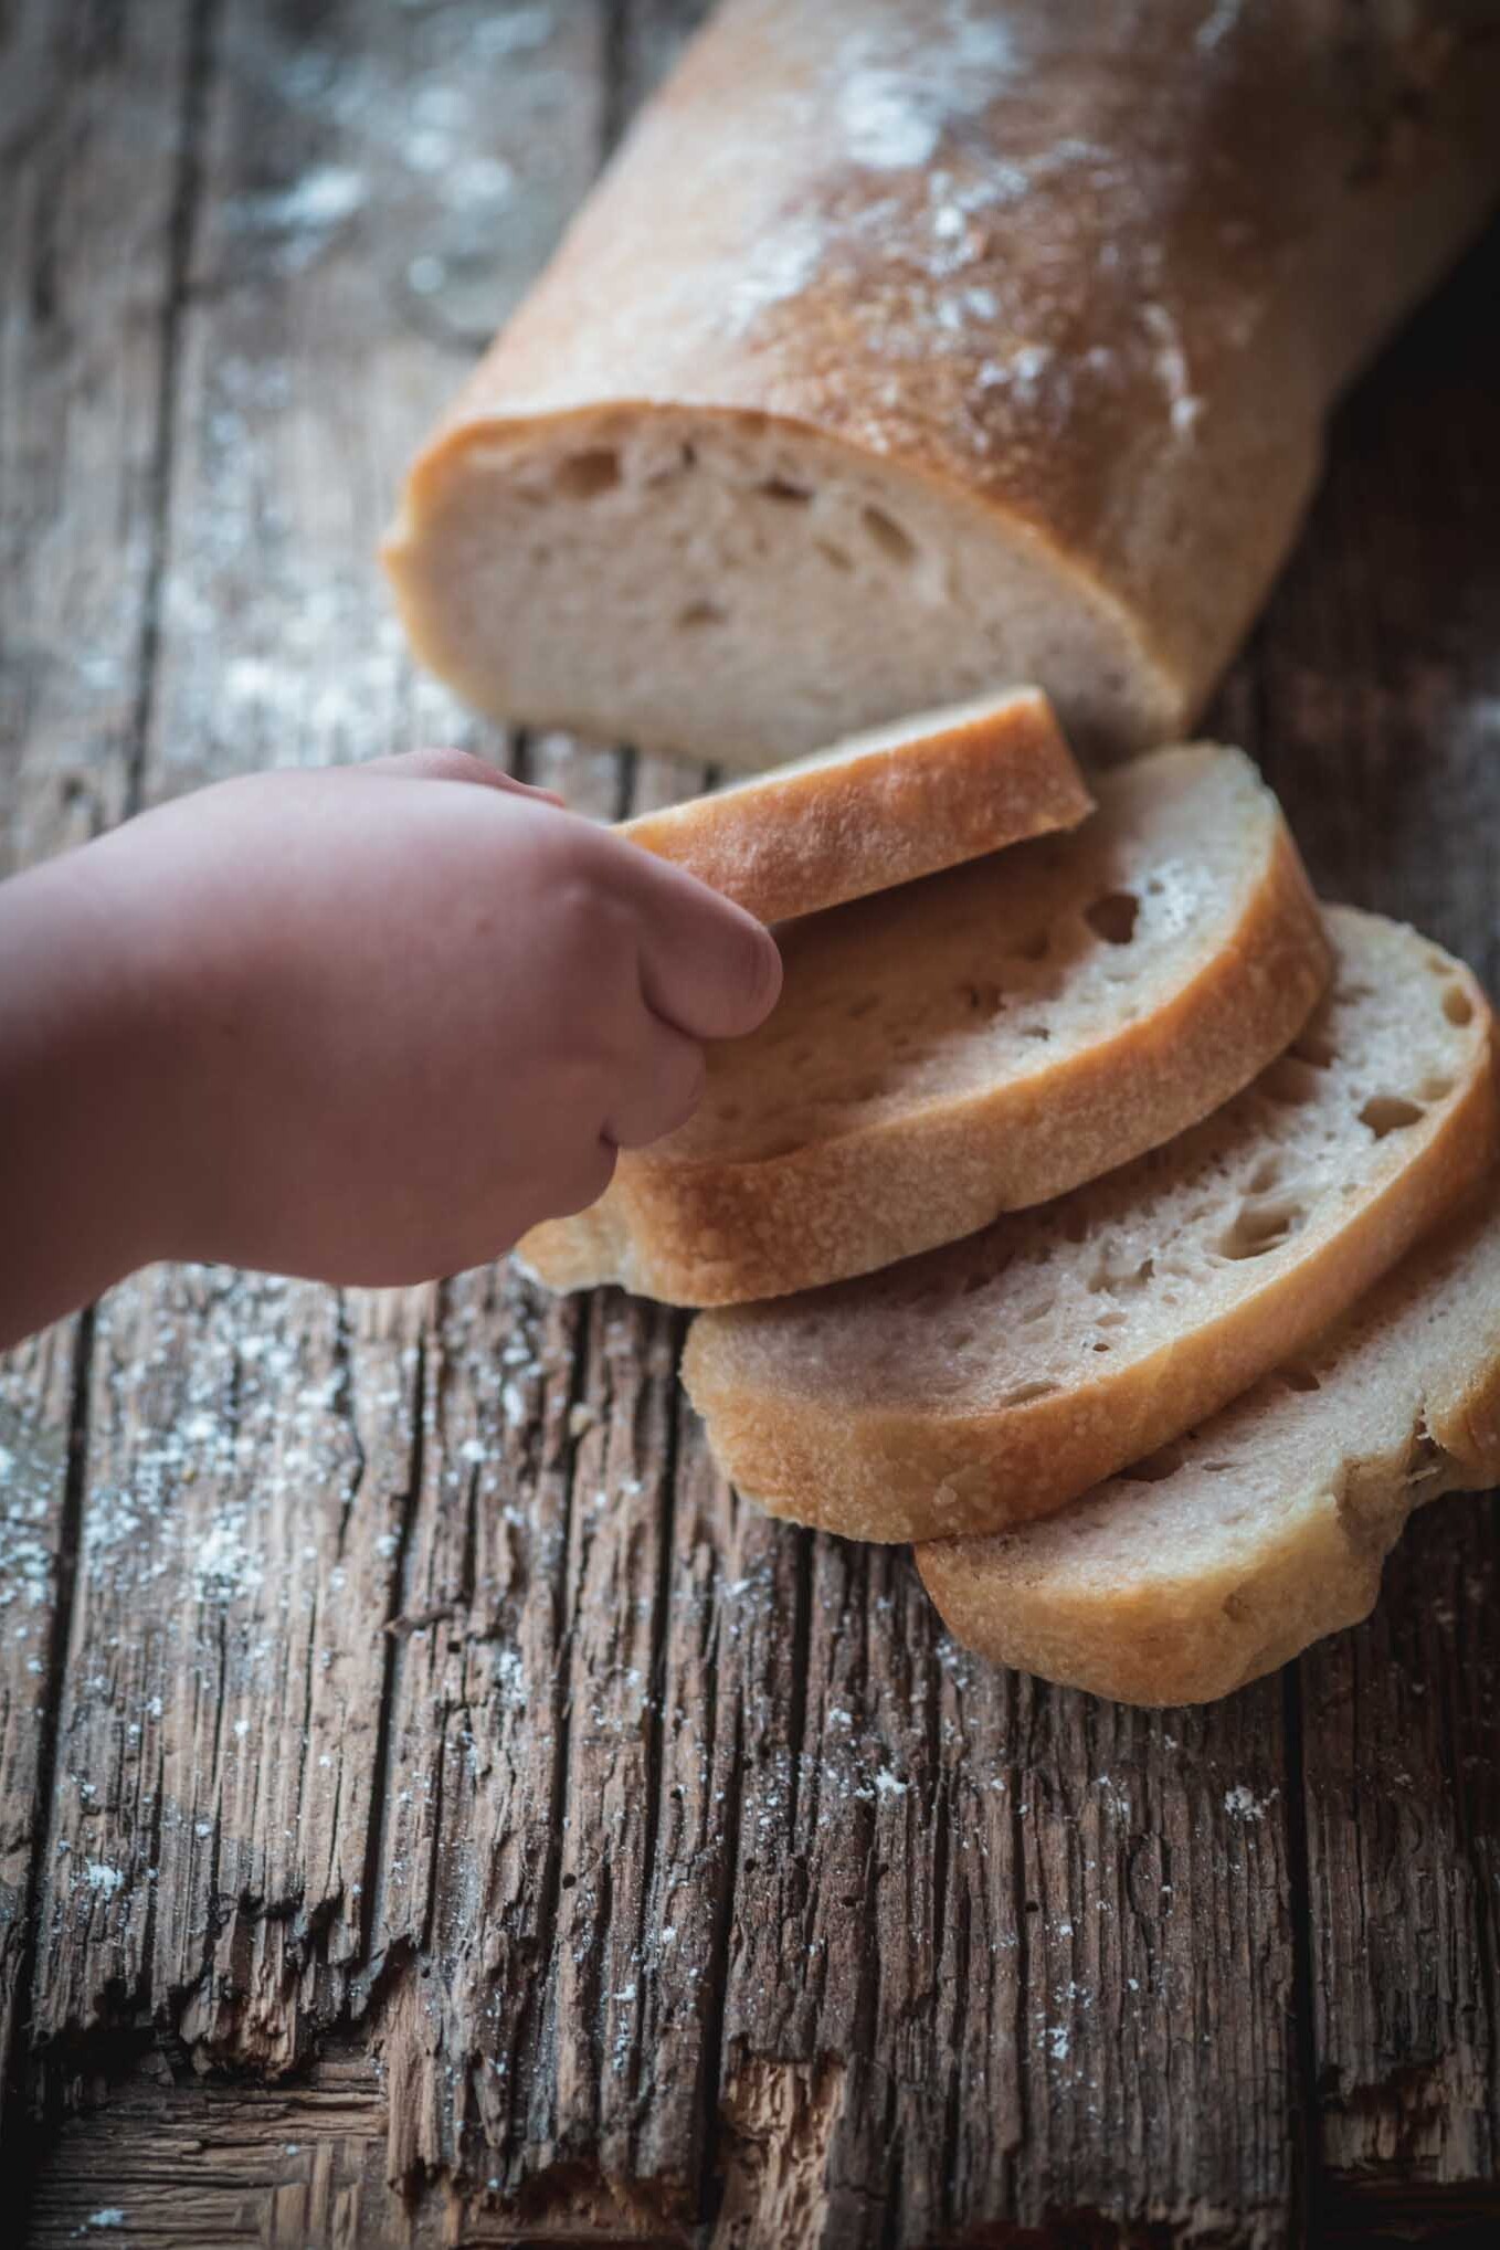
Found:
[[[1329,914],[1329,999],[1217,1116],[891,1274],[711,1312],[684,1361],[774,1514],[942,1539],[1052,1514],[1302,1350],[1484,1172],[1491,1015],[1379,916]]]

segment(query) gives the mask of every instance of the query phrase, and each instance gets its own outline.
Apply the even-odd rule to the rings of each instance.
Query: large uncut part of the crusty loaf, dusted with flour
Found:
[[[729,0],[418,457],[418,655],[762,765],[1037,680],[1181,740],[1500,187],[1464,0]]]

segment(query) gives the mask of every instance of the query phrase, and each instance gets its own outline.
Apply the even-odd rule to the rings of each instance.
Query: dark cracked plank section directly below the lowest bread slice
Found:
[[[1275,1696],[1176,1719],[1057,1696],[956,1652],[904,1555],[740,1537],[724,2095],[758,2056],[848,2059],[805,2239],[1057,2212],[1185,2236],[1228,2210],[1282,2241]]]

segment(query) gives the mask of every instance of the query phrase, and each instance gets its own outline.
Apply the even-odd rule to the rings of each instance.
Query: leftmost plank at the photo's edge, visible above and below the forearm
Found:
[[[0,875],[133,794],[193,83],[187,0],[0,16]],[[63,1323],[0,1361],[0,2104],[47,1840],[88,1334]]]

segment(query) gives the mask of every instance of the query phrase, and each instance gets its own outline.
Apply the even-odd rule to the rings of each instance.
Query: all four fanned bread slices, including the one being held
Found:
[[[1019,691],[625,832],[776,920],[785,990],[519,1256],[702,1307],[744,1496],[913,1541],[992,1658],[1181,1703],[1500,1478],[1487,999],[1320,909],[1239,752],[1088,788]]]

